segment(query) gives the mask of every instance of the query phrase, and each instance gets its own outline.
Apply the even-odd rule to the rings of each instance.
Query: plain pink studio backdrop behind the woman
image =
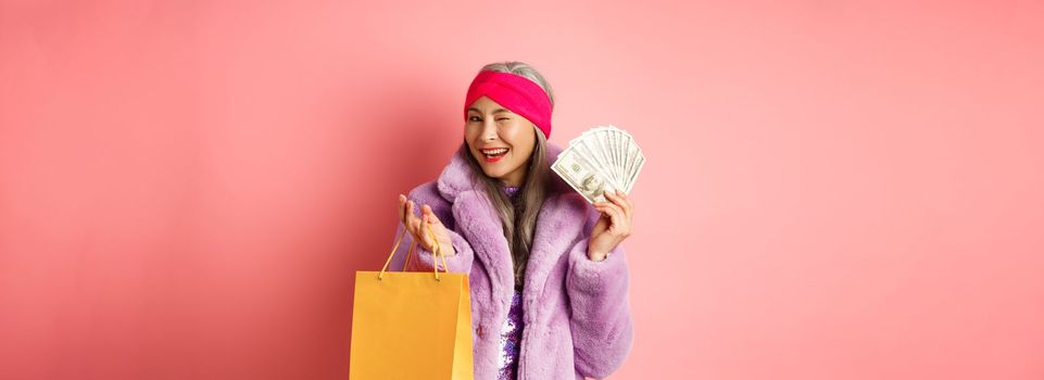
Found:
[[[1040,1],[3,1],[0,378],[344,379],[485,63],[631,131],[618,379],[1044,378]]]

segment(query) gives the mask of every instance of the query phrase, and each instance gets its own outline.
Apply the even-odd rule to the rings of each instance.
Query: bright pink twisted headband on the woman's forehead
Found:
[[[505,109],[521,115],[551,138],[551,98],[540,85],[526,77],[492,71],[481,71],[471,80],[464,99],[464,119],[467,109],[481,97],[489,97]]]

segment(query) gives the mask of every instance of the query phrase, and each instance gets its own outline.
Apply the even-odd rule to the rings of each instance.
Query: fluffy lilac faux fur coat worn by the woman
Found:
[[[562,148],[548,144],[549,162]],[[514,275],[502,223],[485,192],[468,179],[470,168],[455,152],[439,176],[414,188],[408,199],[431,206],[450,230],[456,255],[452,273],[469,274],[475,379],[495,379],[500,331],[514,295]],[[588,239],[600,214],[554,173],[537,218],[526,269],[526,327],[518,379],[604,378],[631,349],[628,269],[622,244],[607,258],[588,258]],[[402,232],[399,224],[395,237]],[[402,268],[412,237],[406,233],[391,268]],[[432,255],[417,245],[407,270],[432,270]],[[414,265],[416,264],[416,265]]]

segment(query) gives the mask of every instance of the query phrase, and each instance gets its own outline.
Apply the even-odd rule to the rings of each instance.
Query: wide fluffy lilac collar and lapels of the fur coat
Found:
[[[548,143],[548,162],[553,163],[563,151]],[[470,243],[476,258],[485,266],[492,286],[495,309],[506,313],[514,292],[512,256],[504,238],[503,224],[486,193],[470,179],[470,167],[454,152],[450,164],[438,179],[439,193],[452,204],[456,229]],[[580,194],[558,177],[549,175],[548,197],[537,217],[533,244],[526,269],[524,302],[534,299],[554,264],[568,252],[582,235],[590,206]]]

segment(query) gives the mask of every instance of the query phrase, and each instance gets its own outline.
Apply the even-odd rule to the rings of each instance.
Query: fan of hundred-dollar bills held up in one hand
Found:
[[[629,194],[645,155],[627,131],[596,126],[569,141],[551,169],[590,203],[606,202],[605,191]]]

